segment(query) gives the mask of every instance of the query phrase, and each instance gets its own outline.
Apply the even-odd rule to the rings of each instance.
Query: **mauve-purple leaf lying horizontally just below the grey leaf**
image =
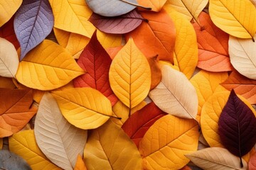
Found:
[[[134,9],[133,11],[118,17],[106,17],[100,16],[97,13],[92,13],[89,21],[102,32],[124,34],[137,28],[142,21],[146,21],[146,19],[142,18],[139,12]]]

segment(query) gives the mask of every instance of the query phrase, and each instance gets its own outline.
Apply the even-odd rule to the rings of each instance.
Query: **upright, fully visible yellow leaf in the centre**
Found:
[[[110,66],[110,86],[114,94],[126,106],[134,108],[149,93],[150,75],[149,62],[129,39]]]

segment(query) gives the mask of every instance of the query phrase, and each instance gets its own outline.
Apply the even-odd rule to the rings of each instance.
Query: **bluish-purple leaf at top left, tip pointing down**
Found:
[[[21,45],[20,61],[53,29],[53,11],[48,0],[23,0],[14,18],[14,30]]]

